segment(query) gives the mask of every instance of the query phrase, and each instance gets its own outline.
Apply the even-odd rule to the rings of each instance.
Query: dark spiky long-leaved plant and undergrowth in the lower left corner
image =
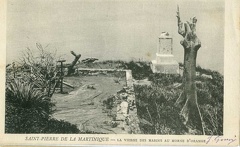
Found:
[[[31,83],[12,80],[6,87],[6,133],[78,133],[76,125],[51,118],[51,99]]]

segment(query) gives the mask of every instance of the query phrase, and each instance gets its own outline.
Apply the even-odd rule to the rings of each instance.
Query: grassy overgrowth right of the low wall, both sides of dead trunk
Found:
[[[145,66],[149,65],[145,64]],[[133,77],[146,78],[146,76],[139,76],[145,75],[145,72],[141,73],[142,70],[139,70],[137,75],[134,75],[136,72],[133,72]],[[197,72],[212,76],[212,78],[206,78],[200,75],[195,81],[205,134],[222,135],[223,76],[216,71],[206,70],[200,66],[197,67]],[[183,117],[179,115],[181,109],[175,105],[183,91],[182,77],[148,73],[147,78],[152,82],[150,86],[135,85],[142,132],[146,134],[189,134]],[[201,132],[201,130],[197,131]],[[197,134],[199,132],[190,133]]]

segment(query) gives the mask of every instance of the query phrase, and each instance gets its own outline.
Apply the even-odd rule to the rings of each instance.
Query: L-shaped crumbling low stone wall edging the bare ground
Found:
[[[111,72],[125,72],[126,73],[126,87],[117,93],[120,98],[120,103],[117,104],[116,120],[117,126],[122,131],[122,134],[140,134],[139,119],[137,116],[137,107],[133,86],[133,78],[131,70],[121,69],[92,69],[92,68],[79,68],[77,72],[88,73],[90,75],[97,75],[102,73]]]

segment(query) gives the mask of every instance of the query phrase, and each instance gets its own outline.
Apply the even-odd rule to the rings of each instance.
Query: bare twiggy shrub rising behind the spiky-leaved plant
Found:
[[[33,54],[33,50],[27,48],[23,52],[21,65],[23,68],[31,69],[30,73],[21,75],[25,81],[34,84],[34,87],[41,88],[42,92],[51,97],[55,87],[59,82],[59,69],[57,68],[55,53],[49,52],[47,47],[36,43],[38,52]]]

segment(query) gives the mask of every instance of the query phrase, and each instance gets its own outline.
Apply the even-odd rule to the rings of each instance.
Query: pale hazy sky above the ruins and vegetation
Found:
[[[173,37],[174,57],[183,62],[177,5],[182,21],[198,19],[197,64],[223,74],[224,0],[8,0],[7,63],[36,43],[68,62],[70,51],[82,59],[151,61],[161,32]]]

